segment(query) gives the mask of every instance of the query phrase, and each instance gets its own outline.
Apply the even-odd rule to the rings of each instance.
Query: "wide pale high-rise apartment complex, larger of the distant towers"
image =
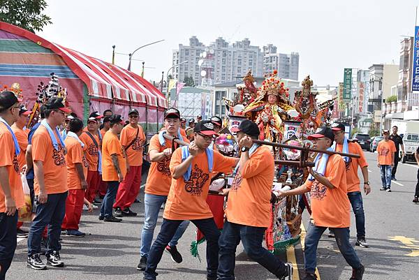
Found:
[[[175,66],[183,61],[188,62]],[[249,69],[254,76],[261,76],[263,52],[250,45],[248,38],[230,44],[219,37],[206,46],[192,36],[189,45],[179,44],[179,50],[173,50],[172,66],[173,78],[183,82],[185,77],[192,77],[196,85],[209,86],[235,81]]]

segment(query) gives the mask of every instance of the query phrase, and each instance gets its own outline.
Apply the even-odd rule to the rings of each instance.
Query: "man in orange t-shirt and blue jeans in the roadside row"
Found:
[[[119,184],[124,181],[126,175],[126,155],[119,142],[118,134],[124,127],[121,115],[110,117],[110,129],[105,133],[102,142],[102,179],[108,184],[108,190],[102,201],[99,220],[108,222],[120,222],[112,214],[112,205],[115,202]]]

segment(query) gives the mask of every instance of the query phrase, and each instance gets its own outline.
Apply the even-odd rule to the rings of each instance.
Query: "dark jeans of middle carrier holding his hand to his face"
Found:
[[[235,252],[242,240],[247,256],[281,279],[286,274],[284,263],[270,251],[263,248],[263,234],[266,228],[244,226],[237,223],[224,223],[223,232],[219,239],[219,267],[217,279],[234,280]]]

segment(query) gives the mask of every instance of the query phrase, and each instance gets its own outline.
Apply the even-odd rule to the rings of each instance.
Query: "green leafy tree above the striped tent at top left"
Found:
[[[0,20],[31,32],[42,31],[52,24],[51,17],[43,14],[45,0],[0,0]]]

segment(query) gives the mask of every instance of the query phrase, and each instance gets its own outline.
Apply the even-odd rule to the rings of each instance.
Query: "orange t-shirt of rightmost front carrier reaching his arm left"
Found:
[[[307,181],[310,189],[311,219],[315,226],[325,228],[348,228],[351,226],[351,204],[346,191],[345,161],[339,154],[329,156],[325,177],[335,188],[323,186],[317,180]]]

